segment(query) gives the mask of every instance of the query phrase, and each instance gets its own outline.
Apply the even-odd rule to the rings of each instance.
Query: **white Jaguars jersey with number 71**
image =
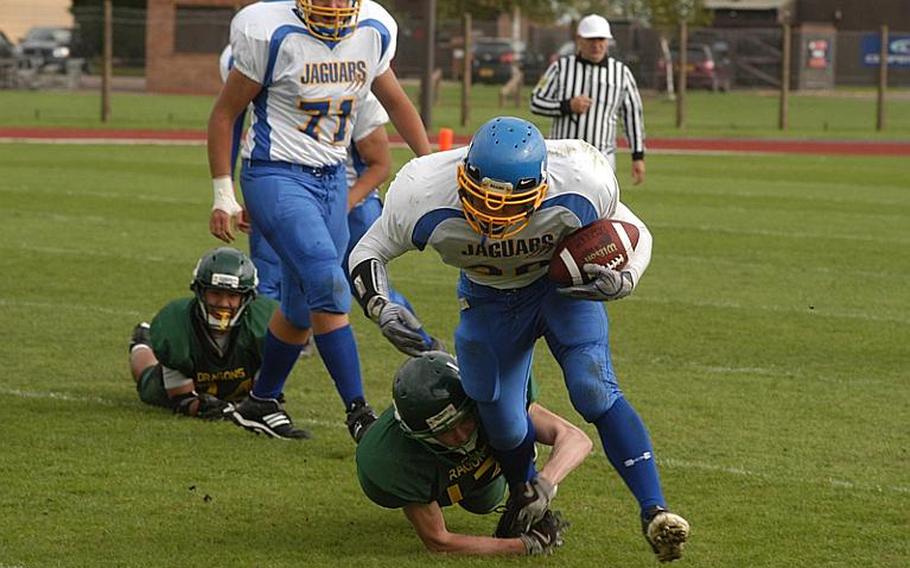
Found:
[[[356,30],[329,42],[313,37],[295,2],[258,2],[231,21],[234,68],[263,86],[253,100],[242,155],[325,166],[343,162],[351,125],[373,79],[395,55],[398,26],[364,0]]]

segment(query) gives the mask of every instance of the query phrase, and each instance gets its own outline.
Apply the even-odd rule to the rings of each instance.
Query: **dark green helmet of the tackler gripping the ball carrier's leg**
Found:
[[[461,386],[458,363],[445,351],[427,351],[408,359],[395,375],[392,403],[402,430],[430,442],[475,407]]]

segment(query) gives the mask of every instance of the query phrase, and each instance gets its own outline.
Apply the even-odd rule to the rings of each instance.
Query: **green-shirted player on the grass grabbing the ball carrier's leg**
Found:
[[[357,476],[377,505],[402,508],[420,540],[433,552],[549,554],[563,543],[568,523],[547,511],[514,538],[449,532],[442,508],[458,504],[477,514],[503,501],[506,481],[490,452],[476,405],[461,386],[455,359],[428,351],[405,362],[395,376],[393,406],[357,447]],[[591,452],[588,436],[532,402],[537,442],[552,446],[540,471],[554,488]]]

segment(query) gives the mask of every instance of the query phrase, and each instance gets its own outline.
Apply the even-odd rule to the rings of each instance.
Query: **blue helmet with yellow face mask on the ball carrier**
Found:
[[[490,239],[524,229],[547,193],[547,145],[536,126],[500,116],[480,127],[458,165],[465,219]]]

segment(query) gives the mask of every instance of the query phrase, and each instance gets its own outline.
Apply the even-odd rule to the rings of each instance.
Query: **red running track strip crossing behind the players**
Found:
[[[169,141],[204,142],[205,132],[199,130],[109,130],[96,128],[7,128],[0,127],[0,139],[91,141],[122,140],[131,142]],[[392,142],[402,143],[401,137],[391,136]],[[468,137],[456,136],[455,144],[468,143]],[[620,145],[624,145],[624,141]],[[870,142],[859,140],[793,140],[738,138],[649,138],[650,151],[679,152],[741,152],[776,154],[816,154],[849,156],[910,156],[910,142]]]

